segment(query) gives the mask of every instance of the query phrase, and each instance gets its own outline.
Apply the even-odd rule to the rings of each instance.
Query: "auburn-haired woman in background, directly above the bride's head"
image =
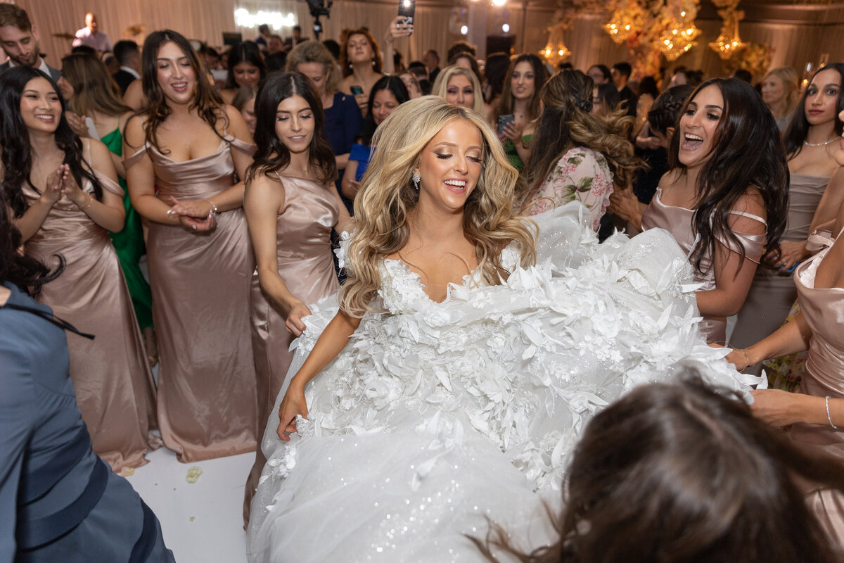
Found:
[[[369,30],[349,31],[340,49],[340,70],[343,73],[340,90],[354,95],[362,116],[366,113],[372,85],[383,76],[381,64],[381,51],[378,51],[378,44]]]

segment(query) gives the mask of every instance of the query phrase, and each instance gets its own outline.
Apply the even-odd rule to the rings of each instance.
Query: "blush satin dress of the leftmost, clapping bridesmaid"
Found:
[[[122,197],[116,182],[96,177],[104,190]],[[93,196],[89,181],[83,189]],[[29,186],[24,195],[30,204],[40,197]],[[96,337],[68,332],[70,377],[94,452],[117,472],[146,464],[147,450],[161,445],[149,432],[156,427],[154,382],[108,232],[62,197],[26,242],[26,252],[51,268],[57,264],[55,255],[64,257],[64,272],[44,286],[39,300]]]

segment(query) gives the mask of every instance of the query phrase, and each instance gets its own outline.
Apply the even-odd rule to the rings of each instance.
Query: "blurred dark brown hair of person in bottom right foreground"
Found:
[[[688,370],[688,368],[687,368]],[[575,449],[559,540],[532,563],[840,560],[794,476],[844,491],[841,464],[751,414],[693,371],[637,387],[595,415]]]

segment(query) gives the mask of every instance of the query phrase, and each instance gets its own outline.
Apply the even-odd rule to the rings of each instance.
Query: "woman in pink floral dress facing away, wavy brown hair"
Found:
[[[544,109],[516,188],[523,213],[540,214],[577,200],[598,230],[613,183],[628,187],[633,181],[638,160],[627,141],[632,120],[624,111],[606,118],[592,115],[592,87],[586,74],[564,70],[542,88]]]

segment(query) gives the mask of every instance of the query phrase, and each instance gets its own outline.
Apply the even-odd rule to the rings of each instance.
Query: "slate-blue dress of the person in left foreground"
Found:
[[[173,561],[158,519],[91,449],[50,308],[3,285],[0,562]]]

